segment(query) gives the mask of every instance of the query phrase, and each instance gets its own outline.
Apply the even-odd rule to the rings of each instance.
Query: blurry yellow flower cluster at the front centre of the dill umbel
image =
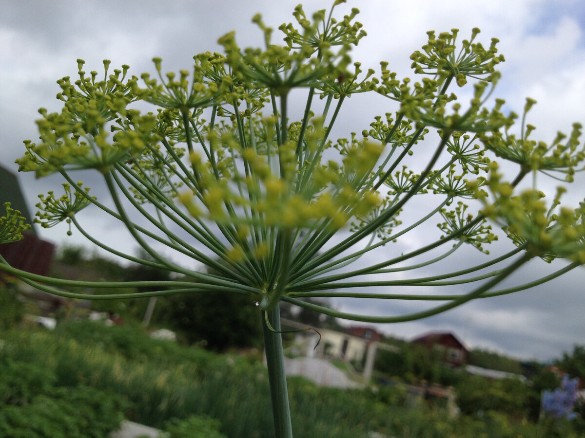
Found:
[[[260,126],[259,123],[257,126]],[[330,161],[328,165],[304,168],[297,174],[294,154],[295,131],[291,141],[277,146],[259,142],[256,147],[242,148],[241,138],[225,132],[217,138],[211,135],[214,150],[222,150],[221,162],[214,169],[211,162],[204,162],[201,155],[192,154],[191,164],[198,175],[198,190],[184,190],[180,201],[195,217],[207,217],[214,221],[238,223],[250,227],[311,228],[316,223],[326,223],[339,229],[350,217],[367,214],[380,202],[374,190],[363,189],[362,180],[370,175],[380,154],[378,145],[341,141],[338,144],[342,164]],[[319,126],[309,126],[304,140],[307,158],[319,150],[317,142],[323,131]],[[210,137],[208,136],[208,140]],[[229,153],[229,155],[228,155]],[[278,169],[271,164],[271,155],[278,156]],[[309,161],[315,164],[319,157]],[[236,161],[235,161],[236,160]],[[244,165],[246,176],[240,175],[238,161]],[[217,178],[219,164],[222,178]],[[246,170],[247,169],[247,170]],[[281,173],[283,176],[278,176]],[[290,175],[288,178],[285,176]],[[297,175],[295,177],[295,175]],[[310,179],[305,178],[311,175]],[[291,178],[292,176],[292,178]],[[249,214],[234,217],[229,204],[245,208]]]

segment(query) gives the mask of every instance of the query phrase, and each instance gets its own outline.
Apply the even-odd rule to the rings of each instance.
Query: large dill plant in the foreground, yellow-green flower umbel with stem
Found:
[[[352,9],[336,20],[332,11],[341,3],[336,0],[329,13],[318,11],[310,19],[298,6],[298,26],[279,27],[281,45],[273,43],[273,29],[257,15],[253,21],[263,31],[266,47],[242,50],[229,33],[219,40],[223,54],[195,55],[192,71],[166,75],[155,58],[158,78],[143,74],[142,82],[129,77],[128,65],[108,74],[107,60],[104,79],[97,72],[88,76],[84,61],[78,60],[79,79],[58,81],[63,110],[40,111],[40,142],[26,141],[25,156],[18,161],[20,171],[37,176],[59,172],[66,180],[63,196],[49,192],[41,197],[37,220],[43,226],[67,221],[115,255],[193,279],[125,283],[157,288],[141,296],[231,293],[259,304],[277,437],[292,435],[280,301],[353,321],[411,321],[476,298],[542,284],[585,262],[585,207],[560,207],[563,188],[549,204],[540,187],[517,188],[527,175],[536,181],[538,172],[560,174],[571,182],[585,157],[579,148],[580,125],[552,144],[532,140],[534,127],[524,125],[535,102],[528,99],[519,134],[512,134],[516,114],[503,114],[501,99],[490,102],[500,77],[495,67],[504,57],[497,53],[497,40],[487,47],[476,41],[479,29],[461,42],[456,29],[429,32],[428,43],[411,57],[415,75],[422,77],[418,82],[400,81],[385,61],[378,74],[373,69],[364,74],[359,62],[352,67],[349,55],[365,36],[355,22],[359,11]],[[458,102],[450,92],[464,86],[472,87],[469,103]],[[307,96],[304,115],[291,121],[289,98],[297,92]],[[360,134],[332,140],[340,108],[356,93],[385,99],[388,112]],[[321,105],[316,97],[323,99]],[[136,102],[150,103],[157,111],[142,114]],[[420,164],[431,141],[436,147],[428,161],[408,168],[404,158],[418,154],[415,166]],[[517,175],[508,180],[495,158],[516,164]],[[70,171],[79,169],[103,176],[115,208],[73,179]],[[428,200],[427,210],[417,210],[420,218],[414,223],[402,224],[401,211],[412,208],[411,200],[419,197]],[[88,206],[119,221],[156,261],[109,248],[88,234],[75,215]],[[134,220],[133,214],[147,224]],[[431,218],[439,218],[442,235],[414,251],[392,249]],[[484,245],[497,238],[489,220],[503,229],[514,248],[480,265],[424,274],[425,267],[459,253],[466,244],[487,252]],[[20,238],[26,227],[11,208],[0,224],[2,242]],[[171,262],[155,244],[218,274]],[[434,249],[442,253],[431,255]],[[363,262],[365,254],[375,261]],[[559,257],[569,264],[555,273],[497,289],[530,260]],[[68,297],[87,298],[54,286],[119,286],[32,276],[6,263],[0,268]],[[479,274],[481,269],[490,271]],[[392,275],[400,272],[405,274]],[[455,284],[467,284],[467,293],[402,293],[404,286]],[[361,290],[380,287],[401,290]],[[301,300],[307,297],[445,303],[412,314],[373,316]]]

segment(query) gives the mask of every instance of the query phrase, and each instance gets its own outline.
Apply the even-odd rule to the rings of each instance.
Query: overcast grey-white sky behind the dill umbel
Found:
[[[100,71],[102,60],[108,58],[111,68],[129,64],[130,74],[140,76],[153,71],[151,60],[156,56],[163,58],[165,71],[190,69],[194,54],[219,51],[218,37],[231,30],[236,30],[240,47],[260,46],[262,36],[250,23],[252,16],[263,13],[264,22],[276,29],[293,20],[291,13],[297,3],[4,0],[0,6],[0,164],[16,171],[14,160],[23,155],[22,140],[37,138],[37,109],[60,109],[60,102],[54,98],[60,91],[56,80],[75,77],[77,58],[87,62],[85,71]],[[307,1],[304,8],[309,14],[330,4],[325,0]],[[398,78],[412,77],[409,54],[426,43],[427,30],[442,32],[457,27],[460,36],[466,38],[473,27],[480,27],[478,39],[486,46],[491,37],[500,39],[500,52],[506,58],[500,66],[503,78],[495,95],[504,98],[506,108],[517,113],[522,112],[526,96],[538,101],[528,120],[537,127],[534,137],[550,141],[556,131],[570,131],[573,121],[585,123],[582,0],[368,0],[340,6],[338,16],[352,6],[360,8],[358,20],[368,33],[353,51],[353,59],[364,67],[377,68],[380,60],[387,60]],[[388,111],[383,103],[353,98],[346,105],[349,112],[342,114],[347,132],[340,135],[367,128],[374,115]],[[88,175],[81,179],[94,178]],[[35,180],[33,175],[21,173],[19,179],[30,207],[37,202],[37,194],[60,188],[58,178]],[[99,186],[90,186],[92,192],[101,194]],[[581,183],[569,193],[574,202],[584,196]],[[123,230],[112,228],[107,221],[92,220],[91,213],[85,211],[79,217],[109,244],[122,242],[127,251],[133,248]],[[63,227],[40,232],[57,244],[83,242],[79,233],[67,238]],[[504,251],[507,245],[510,242],[499,242],[495,252]],[[466,253],[466,259],[481,263],[488,256]],[[522,269],[518,278],[527,281],[563,266],[563,262],[552,266],[539,262],[535,260]],[[429,274],[434,272],[429,270]],[[407,339],[428,331],[452,331],[467,347],[548,360],[572,350],[575,343],[585,344],[584,279],[585,270],[578,268],[534,290],[468,303],[423,321],[378,328]],[[418,309],[409,302],[340,300],[334,304],[343,311],[379,315]]]

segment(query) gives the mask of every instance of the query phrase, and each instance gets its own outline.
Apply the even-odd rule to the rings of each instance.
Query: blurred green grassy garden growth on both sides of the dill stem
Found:
[[[5,339],[0,363],[42,370],[21,370],[29,376],[26,397],[31,400],[48,391],[44,385],[61,391],[90,387],[117,394],[126,418],[149,426],[162,429],[171,419],[208,418],[228,437],[273,436],[267,374],[259,356],[214,354],[150,339],[137,327],[88,321],[64,323],[54,332],[9,331],[0,338]],[[535,425],[511,423],[501,414],[449,420],[441,409],[409,409],[384,391],[318,387],[298,377],[289,378],[288,386],[297,438],[367,437],[370,431],[395,437],[538,436]],[[190,419],[193,415],[198,418]]]

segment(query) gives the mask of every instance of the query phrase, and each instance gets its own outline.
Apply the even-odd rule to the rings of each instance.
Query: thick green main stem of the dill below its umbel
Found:
[[[278,305],[266,311],[267,319],[263,319],[264,347],[266,349],[266,365],[270,382],[272,414],[274,417],[274,436],[276,438],[292,438],[290,408],[288,406],[287,376],[284,372],[283,338],[280,332],[280,308]]]

